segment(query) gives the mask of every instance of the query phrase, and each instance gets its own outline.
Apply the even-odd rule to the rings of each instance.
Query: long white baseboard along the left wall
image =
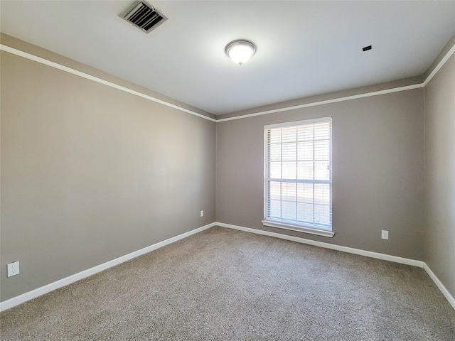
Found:
[[[24,303],[26,301],[30,301],[33,298],[44,295],[45,293],[48,293],[55,289],[61,288],[63,286],[68,286],[68,284],[74,283],[75,281],[79,281],[82,278],[92,276],[94,274],[97,274],[100,271],[112,268],[112,266],[121,264],[124,261],[129,261],[130,259],[136,258],[137,256],[141,256],[142,254],[146,254],[150,251],[154,251],[156,249],[159,249],[160,247],[165,247],[168,244],[172,244],[183,238],[190,237],[192,234],[196,234],[205,229],[210,229],[210,227],[214,227],[214,226],[215,226],[215,222],[213,222],[211,224],[207,224],[203,227],[199,227],[199,228],[193,229],[189,232],[179,234],[176,237],[166,239],[163,242],[159,242],[159,243],[150,245],[149,247],[144,247],[144,249],[139,249],[130,254],[125,254],[124,256],[121,256],[119,258],[112,259],[112,261],[107,261],[106,263],[94,266],[90,269],[81,271],[77,274],[62,278],[62,279],[55,281],[53,283],[50,283],[48,285],[41,286],[41,288],[36,288],[35,290],[28,291],[28,293],[23,293],[22,295],[16,296],[14,298],[10,298],[9,300],[6,300],[6,301],[0,303],[0,311],[6,310],[9,308],[13,308],[14,306],[16,306],[18,304]]]

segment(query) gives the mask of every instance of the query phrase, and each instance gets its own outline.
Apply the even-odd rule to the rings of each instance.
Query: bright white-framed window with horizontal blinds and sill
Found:
[[[333,237],[332,119],[264,126],[262,224]]]

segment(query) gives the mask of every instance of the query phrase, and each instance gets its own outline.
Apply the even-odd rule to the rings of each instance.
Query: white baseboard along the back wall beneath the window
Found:
[[[341,245],[329,244],[324,242],[316,242],[311,239],[304,239],[301,237],[288,236],[286,234],[280,234],[276,232],[263,231],[262,229],[251,229],[250,227],[242,227],[232,224],[225,224],[224,222],[216,222],[217,226],[228,227],[228,229],[239,229],[240,231],[251,232],[256,234],[262,234],[264,236],[277,237],[281,239],[291,240],[292,242],[298,242],[303,244],[314,245],[316,247],[324,247],[326,249],[333,249],[343,252],[348,252],[349,254],[359,254],[360,256],[367,256],[371,258],[383,259],[385,261],[394,261],[395,263],[407,264],[412,266],[418,266],[419,268],[424,267],[423,261],[416,261],[414,259],[407,259],[397,256],[390,256],[390,254],[380,254],[373,251],[365,251],[361,249],[353,249],[352,247],[342,247]]]

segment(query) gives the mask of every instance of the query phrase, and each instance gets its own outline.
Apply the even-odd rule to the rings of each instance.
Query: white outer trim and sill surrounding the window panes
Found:
[[[316,234],[323,237],[333,237],[335,233],[333,232],[333,225],[331,224],[331,228],[325,228],[322,226],[313,225],[310,222],[302,222],[302,224],[296,224],[294,221],[287,222],[285,219],[283,220],[274,220],[273,218],[267,218],[267,180],[269,179],[267,174],[267,169],[269,168],[269,143],[266,139],[267,131],[270,129],[278,129],[278,128],[285,128],[288,126],[301,126],[306,124],[317,124],[323,122],[332,122],[332,117],[320,117],[317,119],[305,119],[301,121],[291,121],[291,122],[284,122],[279,124],[268,124],[264,126],[264,220],[262,220],[262,224],[267,227],[276,227],[279,229],[288,229],[291,231],[297,232],[304,232],[308,234]],[[330,154],[332,153],[332,136],[330,135]],[[332,155],[330,155],[330,163],[332,167]],[[305,180],[302,180],[303,182]],[[326,180],[330,185],[332,185],[332,176],[330,176],[330,180]],[[300,180],[296,180],[296,183],[299,183]],[[332,191],[331,191],[332,192]],[[332,193],[331,193],[331,207],[332,207]]]

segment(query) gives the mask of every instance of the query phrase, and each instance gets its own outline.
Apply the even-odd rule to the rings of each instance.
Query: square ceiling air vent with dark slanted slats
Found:
[[[161,11],[142,1],[135,2],[122,17],[145,33],[150,33],[168,20]]]

